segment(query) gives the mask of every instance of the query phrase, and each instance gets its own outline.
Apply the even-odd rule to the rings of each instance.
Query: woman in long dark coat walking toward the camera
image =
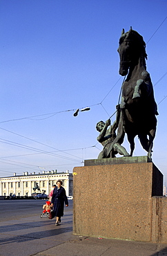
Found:
[[[59,223],[61,222],[64,203],[66,204],[66,207],[68,207],[66,190],[62,187],[62,184],[62,181],[57,181],[57,187],[54,188],[52,194],[51,206],[53,207],[55,216],[57,217],[57,221],[55,223],[56,226],[59,226]]]

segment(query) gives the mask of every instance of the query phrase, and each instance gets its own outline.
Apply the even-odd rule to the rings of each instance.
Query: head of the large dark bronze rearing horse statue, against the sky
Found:
[[[145,58],[146,55],[146,44],[144,39],[137,31],[130,30],[125,33],[124,29],[122,30],[121,37],[119,39],[119,48],[118,53],[120,57],[119,62],[119,75],[127,75],[128,69],[132,66],[135,66],[139,62],[139,57],[142,56],[142,61],[146,66]]]

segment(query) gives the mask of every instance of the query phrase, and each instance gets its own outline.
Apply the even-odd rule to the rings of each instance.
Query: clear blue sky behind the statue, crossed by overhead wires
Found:
[[[166,7],[161,0],[0,1],[0,176],[72,172],[97,158],[95,125],[115,112],[118,42],[132,26],[146,42],[159,111],[153,163],[167,179]],[[74,117],[83,107],[90,111]],[[135,142],[134,156],[146,156]],[[127,139],[124,147],[129,152]]]

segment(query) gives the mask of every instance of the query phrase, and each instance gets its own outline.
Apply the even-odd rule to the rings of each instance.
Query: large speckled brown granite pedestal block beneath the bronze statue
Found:
[[[128,163],[106,164],[104,159],[104,165],[101,161],[100,165],[74,168],[73,234],[135,241],[157,239],[152,232],[157,228],[152,197],[162,196],[163,175],[153,163],[129,161],[130,157]]]

